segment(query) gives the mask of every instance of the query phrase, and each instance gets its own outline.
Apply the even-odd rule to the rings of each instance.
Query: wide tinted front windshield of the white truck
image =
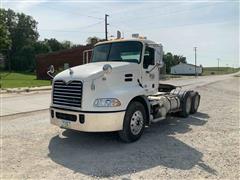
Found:
[[[92,62],[140,62],[142,43],[137,41],[101,44],[94,48]]]

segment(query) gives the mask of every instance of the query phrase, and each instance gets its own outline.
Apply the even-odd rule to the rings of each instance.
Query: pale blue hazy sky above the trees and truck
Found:
[[[139,33],[161,43],[164,52],[182,55],[194,64],[239,67],[239,1],[80,1],[0,0],[38,22],[40,40],[56,38],[86,44],[89,36],[104,38],[104,15],[108,35],[117,30],[124,38]]]

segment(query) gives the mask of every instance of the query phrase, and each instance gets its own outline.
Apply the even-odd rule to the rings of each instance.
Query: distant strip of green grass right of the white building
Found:
[[[231,67],[204,67],[203,68],[203,76],[207,75],[220,75],[220,74],[230,74],[238,72],[239,68],[231,68]]]

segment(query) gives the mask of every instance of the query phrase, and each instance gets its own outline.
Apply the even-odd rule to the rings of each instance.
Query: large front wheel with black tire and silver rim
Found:
[[[123,130],[119,131],[119,137],[124,142],[134,142],[138,140],[145,127],[146,111],[140,102],[131,102],[127,108]]]

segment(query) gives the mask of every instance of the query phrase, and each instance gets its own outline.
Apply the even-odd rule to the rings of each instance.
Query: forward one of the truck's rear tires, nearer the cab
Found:
[[[188,115],[190,114],[191,111],[191,107],[192,107],[192,98],[191,98],[191,92],[187,91],[182,99],[181,102],[181,111],[179,112],[179,115],[181,117],[188,117]]]

